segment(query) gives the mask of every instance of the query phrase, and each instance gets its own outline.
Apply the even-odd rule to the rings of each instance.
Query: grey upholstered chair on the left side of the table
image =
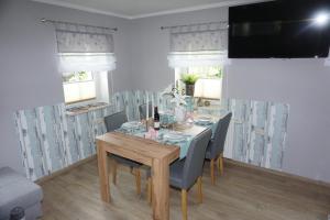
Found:
[[[107,132],[114,131],[121,127],[124,122],[128,121],[128,117],[124,111],[113,113],[105,118],[105,123],[107,128]],[[135,182],[136,182],[136,194],[141,194],[141,173],[140,167],[142,164],[136,163],[134,161],[111,154],[111,172],[112,172],[112,183],[117,184],[117,164],[120,163],[122,165],[129,166],[131,172],[134,170]]]

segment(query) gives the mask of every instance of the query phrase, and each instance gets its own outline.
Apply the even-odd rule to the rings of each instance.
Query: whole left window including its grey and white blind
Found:
[[[117,61],[113,30],[67,22],[54,22],[54,26],[65,102],[79,102],[77,106],[82,101],[108,103],[109,82],[113,88],[111,72]]]

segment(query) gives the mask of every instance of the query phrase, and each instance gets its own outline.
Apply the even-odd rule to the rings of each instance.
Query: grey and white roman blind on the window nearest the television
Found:
[[[228,23],[210,22],[170,28],[168,65],[218,66],[228,62]]]

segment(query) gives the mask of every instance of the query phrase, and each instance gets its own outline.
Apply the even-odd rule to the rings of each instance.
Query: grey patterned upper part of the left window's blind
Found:
[[[111,30],[56,22],[58,53],[113,53]]]

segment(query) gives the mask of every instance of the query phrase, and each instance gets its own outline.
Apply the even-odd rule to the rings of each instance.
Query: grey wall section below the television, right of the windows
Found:
[[[284,170],[330,183],[330,67],[322,59],[233,61],[230,97],[290,105]]]

